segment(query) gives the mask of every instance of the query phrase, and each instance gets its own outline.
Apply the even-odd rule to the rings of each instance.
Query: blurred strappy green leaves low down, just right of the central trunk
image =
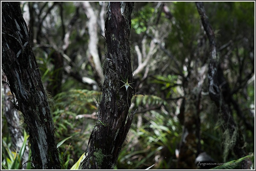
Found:
[[[127,137],[129,141],[119,155],[117,168],[146,169],[158,156],[159,161],[152,168],[167,169],[164,163],[170,163],[175,158],[176,143],[180,140],[179,121],[164,110],[150,110],[141,116],[144,121],[140,127],[135,123],[132,125]],[[138,117],[135,118],[137,120]],[[162,158],[160,154],[163,153],[168,157]]]

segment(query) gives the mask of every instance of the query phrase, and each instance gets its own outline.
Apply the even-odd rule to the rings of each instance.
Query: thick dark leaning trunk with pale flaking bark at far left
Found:
[[[27,124],[36,169],[60,169],[49,103],[19,2],[2,3],[2,69]]]

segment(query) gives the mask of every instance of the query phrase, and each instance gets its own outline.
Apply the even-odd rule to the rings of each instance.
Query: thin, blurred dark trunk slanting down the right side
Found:
[[[242,132],[236,126],[236,123],[231,115],[231,110],[227,104],[227,98],[225,94],[228,91],[228,82],[223,76],[223,72],[219,67],[219,59],[216,51],[216,42],[214,31],[210,25],[209,19],[206,15],[204,5],[202,2],[196,2],[198,13],[201,17],[204,30],[208,36],[210,42],[210,63],[208,70],[209,80],[209,95],[212,101],[216,104],[220,111],[220,117],[223,120],[223,133],[228,130],[230,136],[235,137],[235,143],[233,146],[234,153],[237,157],[241,158],[247,155],[245,152],[244,138]],[[224,134],[223,134],[224,135]],[[224,135],[225,136],[225,135]],[[232,143],[232,142],[231,142]],[[251,160],[246,159],[242,163],[242,169],[250,169]]]

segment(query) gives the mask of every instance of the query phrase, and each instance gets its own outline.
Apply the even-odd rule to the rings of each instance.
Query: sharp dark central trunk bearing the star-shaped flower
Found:
[[[122,86],[127,79],[132,83],[130,31],[133,5],[133,2],[110,2],[107,6],[107,58],[103,63],[102,99],[81,169],[113,168],[132,124],[135,111],[129,113],[129,107],[133,89],[128,87],[126,90]],[[133,84],[130,86],[134,87]]]

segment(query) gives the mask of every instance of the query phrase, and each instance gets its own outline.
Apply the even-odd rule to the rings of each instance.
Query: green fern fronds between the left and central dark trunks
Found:
[[[54,97],[55,106],[54,109],[52,109],[52,114],[57,138],[63,139],[60,143],[63,143],[64,146],[60,146],[59,148],[63,168],[70,168],[73,165],[70,166],[70,164],[78,160],[76,157],[82,154],[80,148],[84,146],[83,143],[81,144],[81,139],[88,141],[92,124],[95,123],[92,119],[85,120],[76,117],[78,115],[95,112],[98,106],[96,99],[100,99],[99,96],[100,92],[98,91],[70,89]],[[71,139],[71,137],[72,141],[70,142],[69,139]],[[75,150],[76,153],[74,153],[73,150]],[[74,154],[76,154],[76,156],[74,156]],[[79,163],[74,164],[74,167],[78,168],[79,166],[77,166],[77,164]]]

